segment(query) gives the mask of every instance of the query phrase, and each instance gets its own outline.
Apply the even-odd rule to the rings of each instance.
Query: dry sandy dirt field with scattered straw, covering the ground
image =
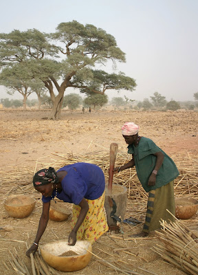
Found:
[[[140,135],[150,137],[162,148],[179,168],[186,166],[188,159],[191,167],[197,167],[198,153],[198,113],[193,111],[177,112],[138,112],[138,111],[80,111],[62,112],[59,121],[48,121],[49,111],[5,111],[0,110],[1,119],[1,226],[10,225],[14,230],[0,231],[0,274],[17,274],[10,265],[10,252],[16,248],[19,257],[31,272],[30,259],[25,256],[26,243],[34,241],[39,217],[41,214],[41,196],[32,187],[34,170],[39,170],[42,164],[58,166],[57,156],[86,154],[87,159],[97,152],[109,152],[111,142],[117,142],[119,151],[126,152],[126,144],[120,128],[126,121],[140,125]],[[86,162],[86,155],[84,161]],[[183,162],[184,161],[184,162]],[[184,166],[184,167],[183,167]],[[198,169],[197,169],[198,170]],[[107,171],[106,171],[107,172]],[[105,174],[107,177],[107,173]],[[197,174],[198,177],[198,174]],[[106,178],[108,181],[108,178]],[[131,186],[131,189],[133,186]],[[142,187],[139,185],[140,190]],[[131,191],[130,191],[131,192]],[[190,191],[189,191],[190,192]],[[198,190],[197,190],[198,192]],[[3,200],[14,195],[30,195],[36,198],[36,207],[25,219],[14,219],[6,214]],[[178,195],[178,194],[177,194]],[[195,197],[197,199],[197,197]],[[126,217],[136,217],[144,221],[146,200],[128,199]],[[197,230],[197,214],[184,221],[192,230]],[[182,275],[185,274],[176,267],[166,263],[153,251],[159,241],[155,234],[144,239],[130,239],[130,235],[140,232],[142,224],[134,226],[123,225],[124,234],[108,232],[93,245],[93,252],[120,270],[128,269],[134,274]],[[49,221],[42,236],[41,244],[67,239],[70,221]],[[130,248],[130,250],[118,250]],[[117,251],[116,251],[117,250]],[[85,269],[67,274],[124,274],[113,270],[108,263],[104,264],[96,256]],[[5,263],[9,270],[6,269]],[[56,274],[64,274],[57,272]]]

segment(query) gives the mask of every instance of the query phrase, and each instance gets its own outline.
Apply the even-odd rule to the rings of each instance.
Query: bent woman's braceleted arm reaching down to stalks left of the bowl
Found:
[[[26,255],[30,257],[31,253],[35,253],[38,245],[39,245],[39,241],[41,239],[41,236],[43,235],[43,233],[45,232],[45,228],[47,226],[47,222],[49,220],[49,210],[50,210],[50,201],[43,203],[43,211],[41,214],[41,218],[39,220],[39,227],[36,233],[36,238],[34,239],[34,243],[31,246],[31,248],[26,252]]]

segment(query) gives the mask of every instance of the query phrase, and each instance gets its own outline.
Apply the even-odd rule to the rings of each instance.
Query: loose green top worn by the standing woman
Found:
[[[168,182],[173,181],[173,179],[179,175],[173,159],[168,157],[153,140],[147,137],[141,137],[137,147],[130,144],[127,148],[128,153],[133,155],[137,177],[140,179],[140,183],[146,192],[168,184]],[[148,186],[148,179],[155,168],[157,159],[153,154],[159,151],[164,154],[164,161],[157,172],[155,186]]]

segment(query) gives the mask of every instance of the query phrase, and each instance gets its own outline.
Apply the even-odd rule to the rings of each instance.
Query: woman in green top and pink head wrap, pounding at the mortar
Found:
[[[126,122],[122,126],[122,136],[132,159],[114,171],[120,172],[135,166],[137,177],[146,192],[148,203],[143,230],[138,236],[148,236],[148,232],[160,228],[159,221],[174,221],[168,209],[175,216],[174,179],[179,175],[173,159],[168,157],[152,140],[138,135],[139,126]]]

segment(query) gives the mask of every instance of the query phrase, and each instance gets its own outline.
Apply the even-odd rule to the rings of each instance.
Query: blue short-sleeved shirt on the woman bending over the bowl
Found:
[[[56,190],[54,190],[52,197],[43,196],[44,203],[56,195],[58,199],[78,205],[83,197],[85,199],[98,199],[104,192],[104,173],[95,164],[77,162],[64,166],[57,172],[60,171],[67,171],[67,175],[61,181],[62,191],[56,195]]]

